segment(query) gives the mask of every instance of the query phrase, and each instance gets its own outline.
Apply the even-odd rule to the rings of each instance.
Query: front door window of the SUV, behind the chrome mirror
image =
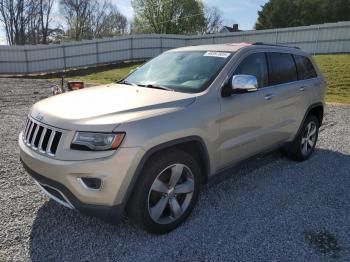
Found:
[[[265,53],[247,56],[236,69],[235,75],[253,75],[258,79],[258,87],[268,85],[268,71]]]

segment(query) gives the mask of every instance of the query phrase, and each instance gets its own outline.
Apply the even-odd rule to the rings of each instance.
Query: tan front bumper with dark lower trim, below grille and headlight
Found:
[[[119,148],[112,156],[84,161],[62,161],[45,157],[28,148],[19,136],[20,158],[27,172],[54,200],[79,211],[106,217],[120,215],[125,195],[144,150]],[[89,190],[79,178],[100,178],[103,187]],[[120,209],[120,210],[119,210]]]

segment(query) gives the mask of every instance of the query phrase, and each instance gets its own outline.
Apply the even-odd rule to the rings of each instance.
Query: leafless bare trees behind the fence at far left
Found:
[[[55,4],[66,30],[53,16]],[[10,45],[109,37],[127,27],[126,17],[110,0],[0,0],[0,22]]]

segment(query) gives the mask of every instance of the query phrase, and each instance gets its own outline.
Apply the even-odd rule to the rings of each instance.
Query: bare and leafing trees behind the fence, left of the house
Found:
[[[0,24],[10,45],[125,33],[215,33],[222,25],[220,10],[202,0],[132,0],[132,7],[135,17],[128,23],[112,0],[0,0]]]

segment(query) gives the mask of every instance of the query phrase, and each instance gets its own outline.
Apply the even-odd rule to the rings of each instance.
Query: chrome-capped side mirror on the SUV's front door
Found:
[[[258,79],[252,75],[234,75],[224,95],[241,94],[258,90]]]

